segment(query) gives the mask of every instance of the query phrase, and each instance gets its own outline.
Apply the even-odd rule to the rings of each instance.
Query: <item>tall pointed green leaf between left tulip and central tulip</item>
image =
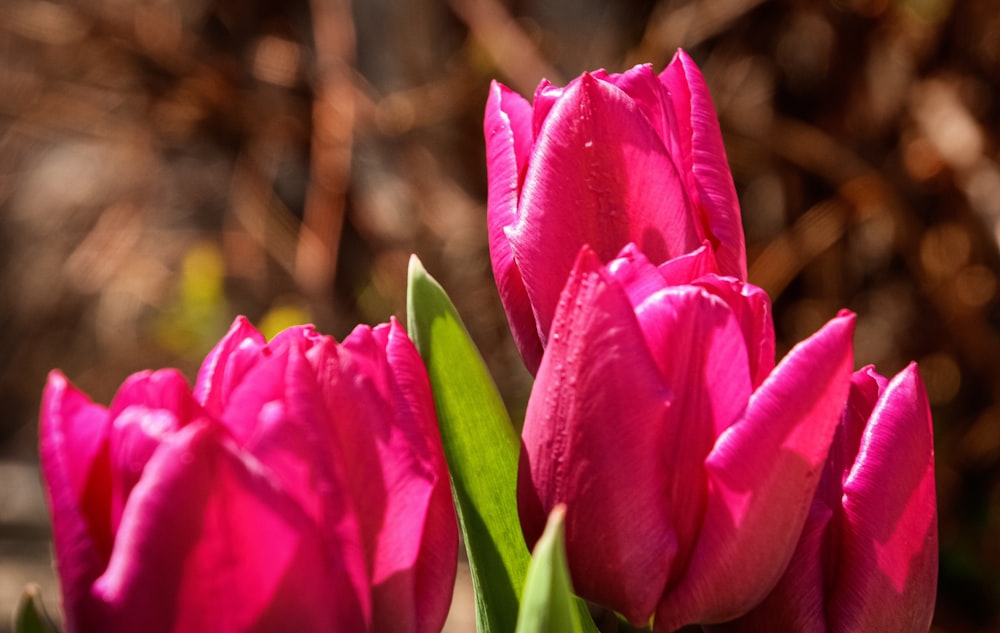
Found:
[[[448,295],[410,259],[407,329],[427,366],[481,633],[511,633],[531,556],[517,518],[520,440]]]

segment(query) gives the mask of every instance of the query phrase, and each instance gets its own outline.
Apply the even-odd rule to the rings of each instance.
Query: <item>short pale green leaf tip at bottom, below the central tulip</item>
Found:
[[[583,633],[566,562],[566,506],[549,514],[524,583],[517,633]]]

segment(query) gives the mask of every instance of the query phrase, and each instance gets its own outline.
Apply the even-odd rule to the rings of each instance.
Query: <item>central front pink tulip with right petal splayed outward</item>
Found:
[[[702,275],[712,259],[582,249],[522,435],[526,540],[566,504],[574,587],[658,631],[730,620],[774,586],[850,384],[853,315],[775,367],[766,294]]]

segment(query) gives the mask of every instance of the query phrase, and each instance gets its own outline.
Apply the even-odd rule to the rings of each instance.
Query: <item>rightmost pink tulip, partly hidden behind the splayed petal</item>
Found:
[[[787,571],[753,611],[710,630],[925,633],[936,589],[927,393],[914,364],[892,382],[866,367]]]

